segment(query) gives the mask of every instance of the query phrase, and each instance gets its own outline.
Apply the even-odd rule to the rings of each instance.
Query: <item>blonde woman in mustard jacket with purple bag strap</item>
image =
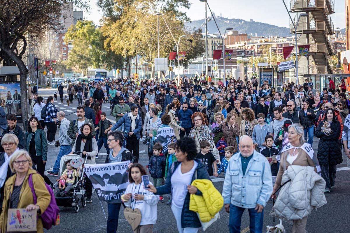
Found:
[[[7,232],[8,209],[26,209],[37,211],[36,232],[44,232],[40,214],[51,202],[51,195],[46,189],[43,178],[32,168],[30,155],[25,150],[15,152],[8,161],[11,172],[14,173],[4,186],[2,212],[0,215],[1,232]],[[29,176],[33,182],[30,187]],[[32,188],[35,190],[36,203],[34,203]]]

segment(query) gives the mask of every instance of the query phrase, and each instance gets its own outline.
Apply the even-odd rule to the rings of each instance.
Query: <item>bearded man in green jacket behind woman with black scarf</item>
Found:
[[[68,131],[67,131],[68,137],[73,139],[72,144],[74,144],[75,139],[81,133],[80,132],[80,128],[85,123],[87,123],[87,124],[89,124],[91,126],[91,128],[92,128],[92,131],[91,131],[92,136],[96,135],[94,122],[92,122],[92,120],[89,119],[89,118],[85,118],[84,115],[85,115],[84,108],[82,106],[77,107],[77,117],[78,117],[78,119],[77,120],[73,120],[69,124],[69,128],[68,128]]]

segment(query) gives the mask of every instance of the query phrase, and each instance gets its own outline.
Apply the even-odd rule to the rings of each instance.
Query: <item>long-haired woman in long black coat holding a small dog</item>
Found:
[[[337,164],[343,162],[339,141],[341,125],[332,108],[326,109],[324,115],[323,121],[317,125],[315,132],[316,137],[320,138],[317,159],[320,162],[322,178],[326,181],[324,192],[330,192],[330,189],[335,186]]]

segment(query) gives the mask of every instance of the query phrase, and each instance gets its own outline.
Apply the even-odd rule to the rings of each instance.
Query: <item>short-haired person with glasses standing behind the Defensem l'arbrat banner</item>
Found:
[[[132,160],[132,154],[125,147],[123,147],[124,136],[121,131],[113,131],[108,134],[107,144],[110,148],[110,153],[107,155],[105,163],[114,163]],[[128,168],[133,164],[130,163]],[[119,210],[121,200],[115,199],[107,203],[108,219],[107,219],[107,233],[116,233],[118,228]]]

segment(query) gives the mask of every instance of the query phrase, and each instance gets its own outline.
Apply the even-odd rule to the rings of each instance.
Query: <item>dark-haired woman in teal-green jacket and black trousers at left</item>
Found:
[[[48,185],[52,185],[50,179],[45,175],[45,165],[47,160],[47,141],[45,131],[42,129],[38,118],[30,117],[26,132],[26,150],[29,152],[33,169],[44,178]]]

